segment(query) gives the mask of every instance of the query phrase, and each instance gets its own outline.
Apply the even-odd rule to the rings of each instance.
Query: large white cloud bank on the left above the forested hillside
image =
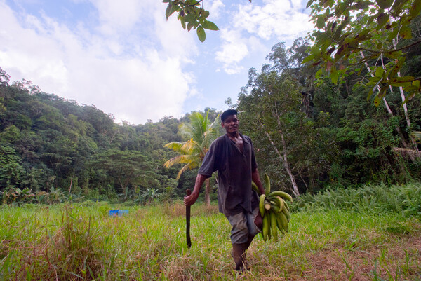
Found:
[[[159,1],[121,3],[93,0],[98,33],[84,22],[71,29],[46,15],[17,14],[0,0],[0,66],[12,81],[25,78],[45,92],[94,104],[117,122],[181,116],[196,92],[194,76],[183,71],[196,54],[194,36],[175,16],[166,22]]]

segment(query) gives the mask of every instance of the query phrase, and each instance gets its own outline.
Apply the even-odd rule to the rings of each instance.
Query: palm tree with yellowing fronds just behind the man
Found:
[[[219,115],[215,118],[213,123],[208,118],[209,111],[206,116],[201,115],[199,112],[192,113],[190,123],[181,123],[178,127],[178,132],[185,142],[170,142],[164,147],[177,151],[180,155],[171,158],[163,165],[171,167],[175,164],[185,164],[177,174],[177,179],[180,179],[182,172],[192,170],[199,167],[205,157],[206,152],[209,150],[210,144],[218,137],[219,130],[217,129]],[[205,202],[210,204],[210,181],[206,179]]]

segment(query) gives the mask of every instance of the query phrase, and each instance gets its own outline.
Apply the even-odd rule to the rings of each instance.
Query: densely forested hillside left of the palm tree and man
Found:
[[[16,196],[51,202],[82,197],[173,198],[194,182],[188,173],[177,181],[178,168],[163,167],[175,156],[163,146],[181,140],[178,125],[188,121],[189,114],[145,125],[118,125],[111,114],[95,106],[41,92],[25,80],[8,85],[8,79],[2,70],[0,191],[4,202]],[[210,109],[210,118],[217,115]],[[20,195],[24,189],[26,193]],[[5,192],[9,190],[13,192]]]

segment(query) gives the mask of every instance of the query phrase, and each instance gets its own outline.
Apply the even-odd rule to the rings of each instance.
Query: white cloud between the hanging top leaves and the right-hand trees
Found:
[[[242,60],[261,52],[268,41],[292,41],[311,30],[303,5],[301,0],[264,0],[261,6],[245,3],[230,11],[232,20],[221,32],[222,50],[216,58],[225,72],[241,71]]]

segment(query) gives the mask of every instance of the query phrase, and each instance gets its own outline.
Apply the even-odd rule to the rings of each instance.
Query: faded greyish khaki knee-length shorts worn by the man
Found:
[[[261,230],[256,226],[255,219],[258,216],[259,207],[250,214],[249,212],[241,212],[227,217],[231,224],[231,242],[232,244],[242,244],[247,242],[248,235],[257,235]]]

